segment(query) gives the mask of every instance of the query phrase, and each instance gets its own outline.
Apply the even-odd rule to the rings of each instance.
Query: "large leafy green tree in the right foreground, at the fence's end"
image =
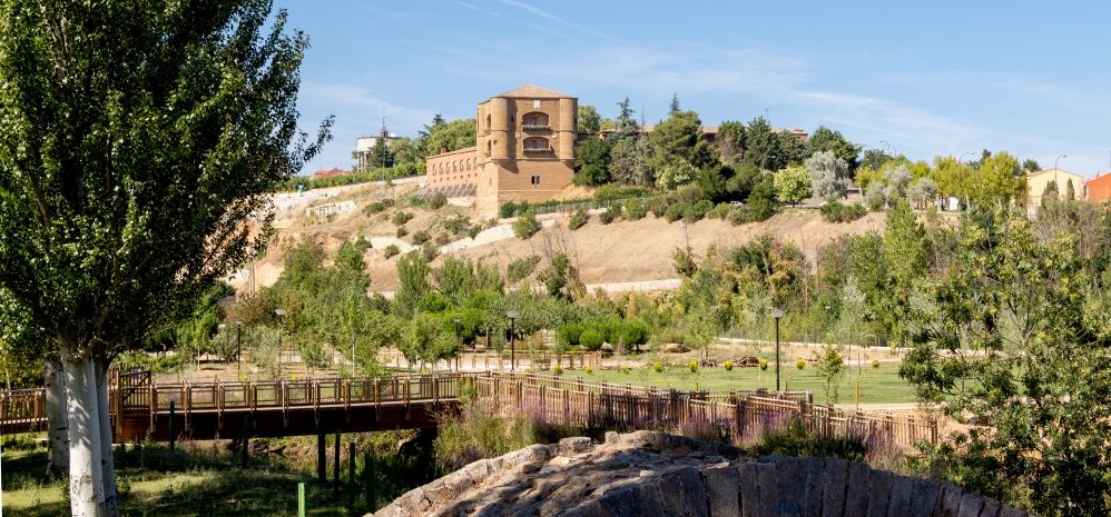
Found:
[[[1046,516],[1111,514],[1111,300],[1092,290],[1079,232],[1041,241],[1012,207],[962,218],[899,376],[972,415],[937,450],[977,493]]]

